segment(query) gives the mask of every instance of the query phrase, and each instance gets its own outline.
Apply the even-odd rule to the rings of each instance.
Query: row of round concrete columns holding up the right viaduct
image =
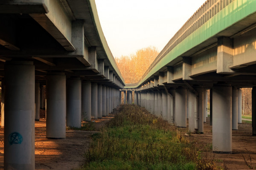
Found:
[[[201,87],[134,91],[135,104],[178,127],[186,127],[189,118],[189,130],[198,133],[204,133],[207,101],[207,90]],[[210,90],[210,106],[213,151],[232,153],[232,130],[237,130],[241,123],[241,89],[214,85]]]

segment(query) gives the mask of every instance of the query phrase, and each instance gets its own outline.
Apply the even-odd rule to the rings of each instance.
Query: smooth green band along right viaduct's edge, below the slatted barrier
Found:
[[[173,59],[181,56],[191,48],[215,36],[222,30],[256,12],[256,0],[234,0],[224,9],[210,18],[204,25],[176,45],[163,59],[161,59],[137,85],[126,85],[125,88],[137,88],[145,80],[163,68]]]

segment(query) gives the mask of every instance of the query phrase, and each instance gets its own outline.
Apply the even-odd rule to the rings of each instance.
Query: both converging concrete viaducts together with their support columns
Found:
[[[170,123],[204,132],[210,89],[212,148],[232,152],[240,88],[256,86],[256,1],[207,0],[160,52],[128,102]],[[94,0],[1,0],[0,79],[5,169],[35,169],[35,120],[46,85],[47,138],[108,116],[124,80]],[[253,135],[256,134],[253,88]],[[125,96],[126,100],[126,96]],[[126,101],[125,101],[126,102]],[[4,119],[4,121],[3,121]],[[239,120],[240,121],[240,120]]]

